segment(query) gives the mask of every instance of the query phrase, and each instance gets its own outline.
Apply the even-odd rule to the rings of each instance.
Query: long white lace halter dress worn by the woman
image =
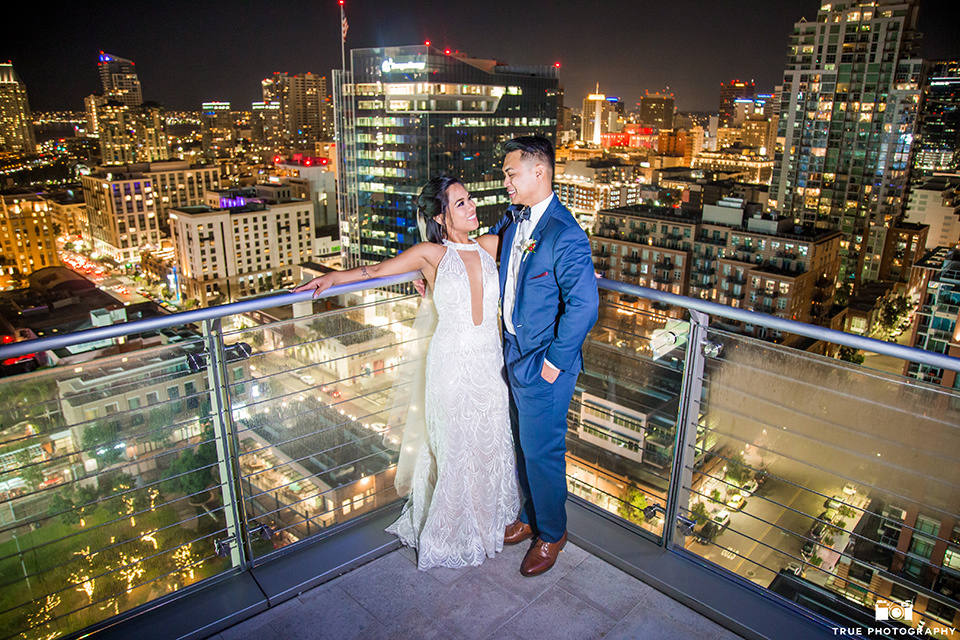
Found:
[[[497,310],[497,265],[479,245],[446,242],[438,323],[426,363],[426,443],[400,519],[387,531],[417,549],[420,569],[475,566],[503,549],[520,508]],[[480,256],[483,319],[473,322],[461,251]]]

